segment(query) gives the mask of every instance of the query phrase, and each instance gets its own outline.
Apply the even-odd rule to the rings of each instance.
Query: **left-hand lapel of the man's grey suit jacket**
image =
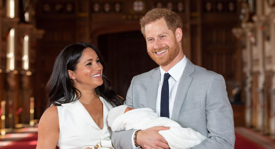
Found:
[[[147,86],[147,106],[156,112],[156,100],[158,95],[158,85],[160,83],[160,68],[158,68],[148,81]]]

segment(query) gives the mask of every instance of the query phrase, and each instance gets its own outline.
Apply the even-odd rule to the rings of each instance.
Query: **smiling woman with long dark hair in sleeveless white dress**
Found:
[[[39,122],[36,148],[113,148],[107,115],[123,100],[103,70],[93,44],[79,42],[61,51],[46,85],[49,107]]]

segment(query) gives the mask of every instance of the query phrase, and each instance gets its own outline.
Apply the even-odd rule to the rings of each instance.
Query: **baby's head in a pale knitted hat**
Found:
[[[107,118],[108,125],[111,127],[113,122],[117,117],[119,117],[119,115],[122,115],[133,109],[135,108],[130,108],[127,105],[120,105],[120,106],[114,107],[109,111],[108,118]]]

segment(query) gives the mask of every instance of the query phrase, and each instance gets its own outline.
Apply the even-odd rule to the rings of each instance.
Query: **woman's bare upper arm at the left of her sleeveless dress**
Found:
[[[59,138],[58,110],[49,107],[42,115],[38,124],[37,149],[55,149]]]

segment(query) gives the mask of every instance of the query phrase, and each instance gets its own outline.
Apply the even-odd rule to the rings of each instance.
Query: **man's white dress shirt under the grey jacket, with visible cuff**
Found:
[[[163,77],[165,73],[169,73],[171,77],[168,79],[169,84],[169,117],[171,119],[172,111],[174,107],[174,101],[176,97],[176,93],[178,90],[178,83],[180,82],[180,77],[183,73],[183,70],[185,68],[187,59],[184,55],[182,60],[180,60],[175,66],[173,66],[168,72],[165,72],[161,66],[160,66],[160,84],[158,86],[158,95],[157,95],[157,102],[156,102],[156,113],[158,113],[158,116],[160,116],[160,95],[161,95],[161,88],[163,84]],[[134,138],[134,134],[132,135],[132,138]],[[132,139],[131,141],[132,149],[138,149],[135,147],[135,142]]]

